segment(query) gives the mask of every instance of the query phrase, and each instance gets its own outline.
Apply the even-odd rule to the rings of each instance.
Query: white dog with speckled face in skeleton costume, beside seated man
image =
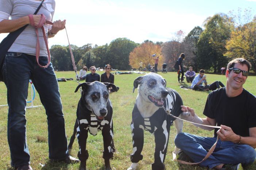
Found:
[[[177,133],[182,132],[183,127],[183,121],[172,118],[164,108],[178,117],[182,113],[183,102],[175,90],[166,88],[166,80],[156,73],[137,77],[133,82],[133,92],[136,88],[138,88],[138,95],[132,111],[131,123],[132,165],[128,170],[137,169],[138,162],[143,158],[141,155],[144,143],[143,130],[155,135],[155,161],[152,164],[152,169],[162,170],[164,169],[170,126],[174,121]],[[174,153],[177,151],[178,149],[175,148]]]

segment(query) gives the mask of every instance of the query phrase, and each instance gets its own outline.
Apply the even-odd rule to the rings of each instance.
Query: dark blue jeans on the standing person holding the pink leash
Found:
[[[39,57],[41,65],[46,65],[47,62],[47,57]],[[54,160],[67,158],[69,155],[65,121],[59,86],[52,64],[47,68],[40,68],[35,56],[8,52],[3,64],[3,77],[7,87],[9,106],[7,135],[11,165],[19,167],[30,163],[25,117],[29,79],[32,80],[46,110],[49,158]]]

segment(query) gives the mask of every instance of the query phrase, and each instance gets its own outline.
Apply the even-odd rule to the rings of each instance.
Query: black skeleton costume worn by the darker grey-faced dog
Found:
[[[86,150],[86,140],[88,137],[88,131],[92,135],[97,135],[98,131],[102,131],[103,136],[103,158],[110,159],[113,157],[113,121],[112,114],[113,108],[110,100],[107,104],[108,114],[104,117],[103,121],[98,121],[95,114],[88,110],[85,104],[79,101],[77,107],[77,139],[79,144],[78,158],[80,161],[86,161],[89,157]]]

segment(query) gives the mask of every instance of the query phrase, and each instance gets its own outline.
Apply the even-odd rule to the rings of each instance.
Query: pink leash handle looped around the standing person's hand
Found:
[[[47,68],[50,64],[51,61],[51,55],[50,55],[50,50],[48,47],[48,43],[47,43],[47,38],[46,38],[46,33],[43,27],[43,24],[50,24],[53,25],[53,23],[51,21],[46,21],[46,16],[44,16],[43,14],[41,14],[41,19],[39,21],[38,26],[35,25],[34,19],[33,19],[33,15],[30,14],[28,15],[29,20],[30,20],[30,24],[35,27],[35,32],[36,32],[36,36],[37,36],[37,41],[36,41],[36,62],[37,64],[41,67],[41,68]],[[43,32],[43,39],[44,39],[44,43],[46,45],[46,50],[47,50],[47,54],[48,54],[48,63],[45,66],[42,66],[39,64],[38,60],[39,60],[39,54],[40,54],[40,44],[39,44],[39,35],[38,35],[38,28],[42,28],[42,32]]]

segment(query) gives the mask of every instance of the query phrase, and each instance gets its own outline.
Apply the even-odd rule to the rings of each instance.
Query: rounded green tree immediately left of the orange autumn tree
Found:
[[[138,46],[135,42],[127,38],[118,38],[109,44],[109,64],[112,68],[119,70],[129,70],[129,54]]]

